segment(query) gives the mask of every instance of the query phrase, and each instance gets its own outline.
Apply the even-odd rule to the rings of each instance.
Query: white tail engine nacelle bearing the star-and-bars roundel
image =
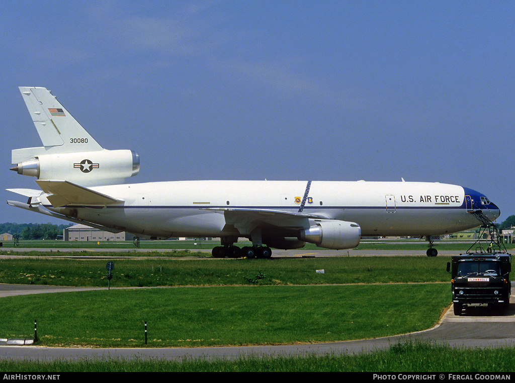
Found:
[[[133,150],[36,155],[11,168],[39,180],[65,180],[83,186],[124,183],[140,171],[140,156]]]

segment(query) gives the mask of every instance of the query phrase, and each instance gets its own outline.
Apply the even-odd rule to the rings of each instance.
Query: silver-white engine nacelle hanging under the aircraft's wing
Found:
[[[315,243],[326,249],[352,249],[359,244],[361,228],[357,223],[330,219],[310,219],[308,229],[300,232],[299,239]]]

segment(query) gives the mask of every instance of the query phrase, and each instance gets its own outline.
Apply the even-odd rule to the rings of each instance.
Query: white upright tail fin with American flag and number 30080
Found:
[[[102,150],[94,138],[46,88],[20,86],[20,92],[43,147],[13,150],[13,164],[38,154]]]

